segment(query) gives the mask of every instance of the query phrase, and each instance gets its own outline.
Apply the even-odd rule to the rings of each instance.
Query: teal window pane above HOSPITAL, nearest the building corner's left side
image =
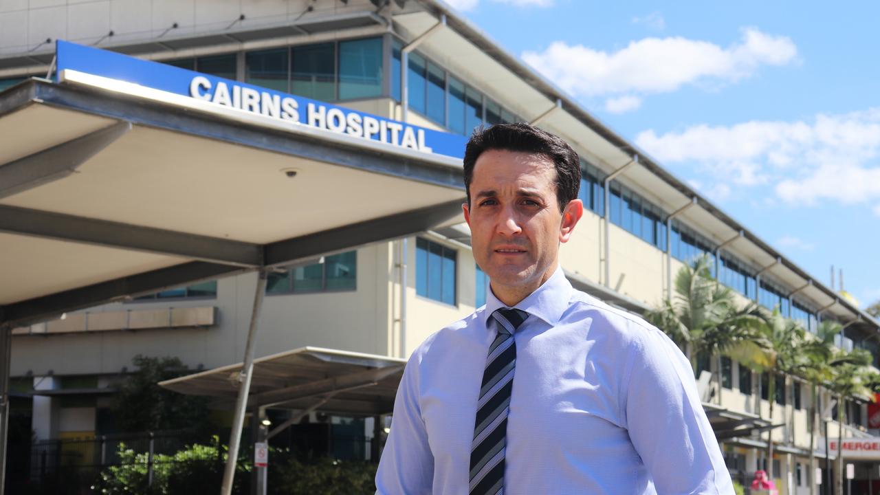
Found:
[[[339,99],[372,98],[382,94],[382,39],[341,41]]]

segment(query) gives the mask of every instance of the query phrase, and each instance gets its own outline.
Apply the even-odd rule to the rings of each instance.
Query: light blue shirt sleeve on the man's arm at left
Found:
[[[419,351],[409,358],[394,399],[391,432],[376,473],[378,495],[430,494],[434,456],[419,405]]]

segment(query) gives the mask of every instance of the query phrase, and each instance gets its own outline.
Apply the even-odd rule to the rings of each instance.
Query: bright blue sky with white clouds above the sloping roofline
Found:
[[[880,299],[880,3],[446,2],[813,277]]]

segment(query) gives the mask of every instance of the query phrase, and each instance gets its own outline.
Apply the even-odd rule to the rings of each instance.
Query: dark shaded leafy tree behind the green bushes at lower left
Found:
[[[149,358],[138,354],[132,363],[137,371],[121,382],[111,408],[121,431],[178,430],[206,424],[206,398],[158,386],[159,381],[187,373],[179,358]]]

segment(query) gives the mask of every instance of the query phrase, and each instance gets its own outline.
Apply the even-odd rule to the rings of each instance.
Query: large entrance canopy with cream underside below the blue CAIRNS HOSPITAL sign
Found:
[[[460,159],[80,76],[0,93],[0,327],[460,212]]]

